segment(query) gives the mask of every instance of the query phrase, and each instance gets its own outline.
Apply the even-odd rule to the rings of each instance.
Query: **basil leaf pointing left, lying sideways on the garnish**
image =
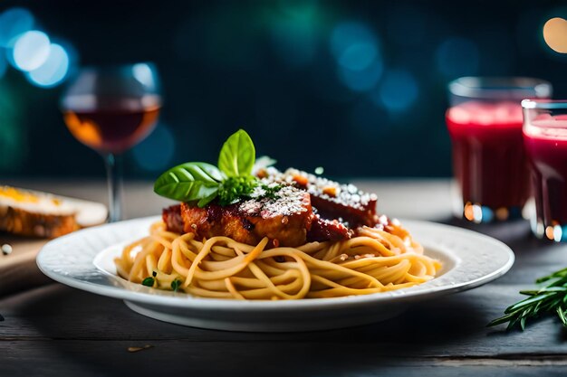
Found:
[[[223,174],[214,165],[185,163],[161,174],[154,184],[154,192],[180,202],[200,201],[216,193],[223,180]]]

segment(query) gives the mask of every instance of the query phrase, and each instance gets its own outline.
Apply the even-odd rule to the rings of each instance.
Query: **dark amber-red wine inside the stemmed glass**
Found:
[[[73,106],[74,105],[74,106]],[[100,152],[119,154],[149,135],[159,116],[159,100],[73,99],[63,109],[72,135]]]

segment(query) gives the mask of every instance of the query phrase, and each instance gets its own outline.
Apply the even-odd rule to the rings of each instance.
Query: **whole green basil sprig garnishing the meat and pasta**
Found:
[[[255,147],[244,129],[226,139],[218,157],[218,167],[207,163],[185,163],[161,174],[154,192],[180,202],[197,202],[199,207],[216,197],[221,205],[235,203],[254,191],[252,175]]]

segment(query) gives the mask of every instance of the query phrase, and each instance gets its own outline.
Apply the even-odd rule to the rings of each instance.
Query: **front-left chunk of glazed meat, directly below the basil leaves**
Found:
[[[274,245],[303,245],[313,218],[309,194],[292,186],[283,186],[274,194],[273,198],[224,207],[211,203],[198,208],[182,203],[183,231],[195,233],[198,238],[222,235],[249,245],[264,237],[274,240]]]

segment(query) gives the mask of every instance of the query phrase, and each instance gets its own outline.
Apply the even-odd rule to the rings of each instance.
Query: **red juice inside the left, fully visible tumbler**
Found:
[[[529,173],[520,104],[470,101],[449,108],[446,119],[463,203],[493,210],[524,206]]]

